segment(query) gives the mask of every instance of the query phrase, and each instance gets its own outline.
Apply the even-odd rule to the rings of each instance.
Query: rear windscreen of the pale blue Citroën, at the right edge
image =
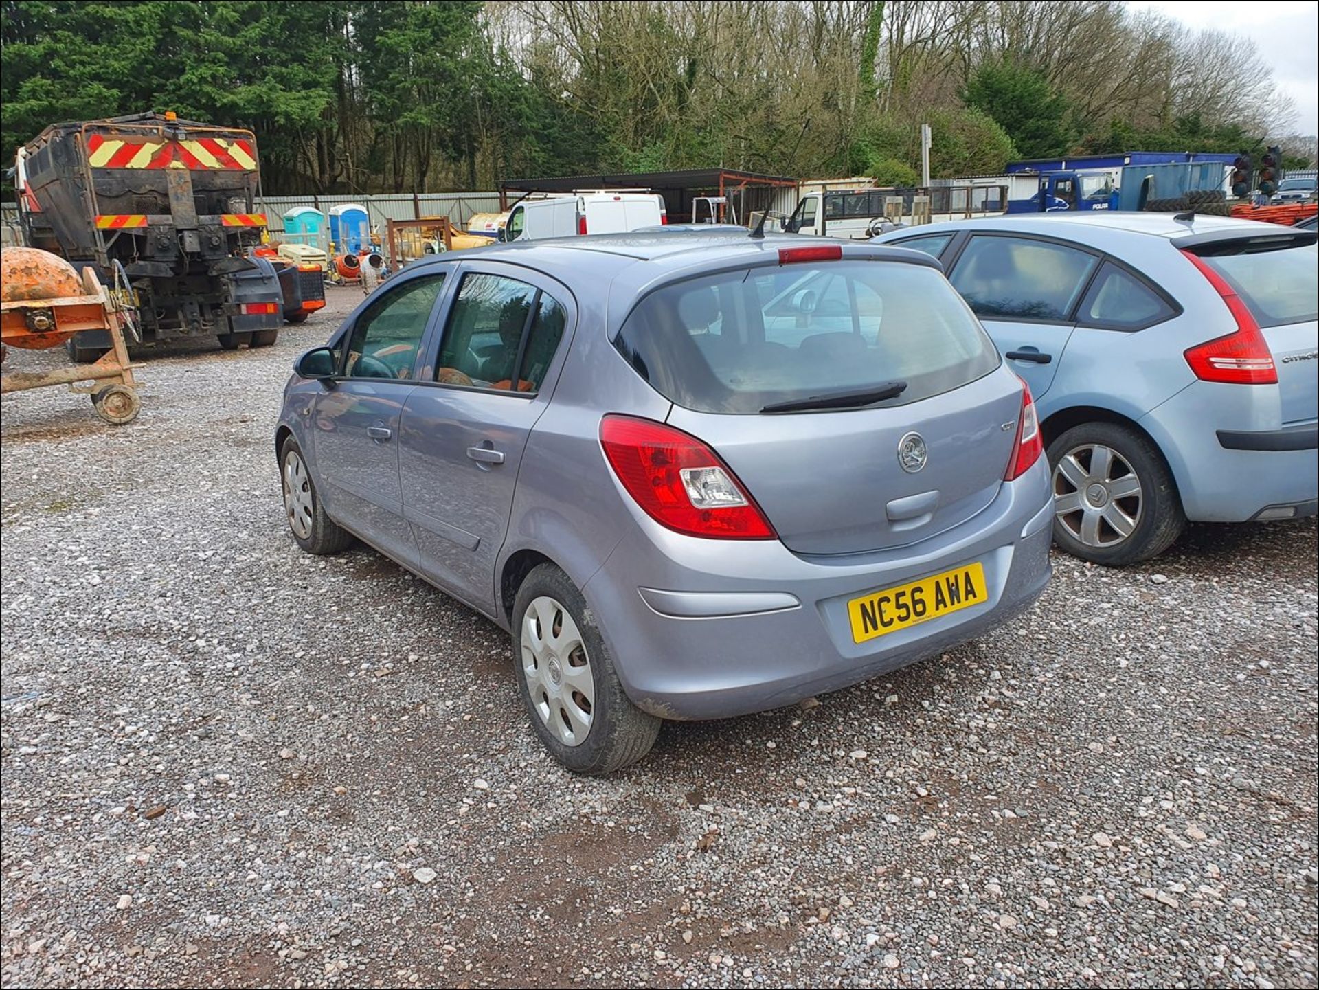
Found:
[[[1315,244],[1272,248],[1265,241],[1233,241],[1231,248],[1198,252],[1240,295],[1261,327],[1307,323],[1319,310],[1319,252]]]

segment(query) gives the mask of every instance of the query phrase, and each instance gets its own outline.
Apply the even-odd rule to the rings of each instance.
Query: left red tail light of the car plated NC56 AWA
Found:
[[[634,417],[600,421],[600,446],[633,501],[689,537],[774,539],[774,527],[733,472],[682,430]]]

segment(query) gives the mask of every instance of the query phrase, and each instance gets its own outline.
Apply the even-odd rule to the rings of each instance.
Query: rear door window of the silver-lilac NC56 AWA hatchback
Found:
[[[533,285],[504,276],[464,276],[445,327],[435,381],[497,392],[512,390],[516,381],[518,392],[534,393],[563,336],[563,322],[558,301]]]

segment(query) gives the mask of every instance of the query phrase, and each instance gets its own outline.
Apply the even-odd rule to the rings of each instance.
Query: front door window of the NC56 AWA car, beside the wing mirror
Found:
[[[439,273],[383,289],[352,327],[344,373],[350,378],[410,377],[443,283]]]

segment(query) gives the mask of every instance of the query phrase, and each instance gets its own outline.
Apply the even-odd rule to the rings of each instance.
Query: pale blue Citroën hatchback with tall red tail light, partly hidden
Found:
[[[1119,567],[1161,554],[1188,519],[1319,509],[1314,231],[1058,212],[880,243],[938,257],[1029,382],[1063,550]]]

